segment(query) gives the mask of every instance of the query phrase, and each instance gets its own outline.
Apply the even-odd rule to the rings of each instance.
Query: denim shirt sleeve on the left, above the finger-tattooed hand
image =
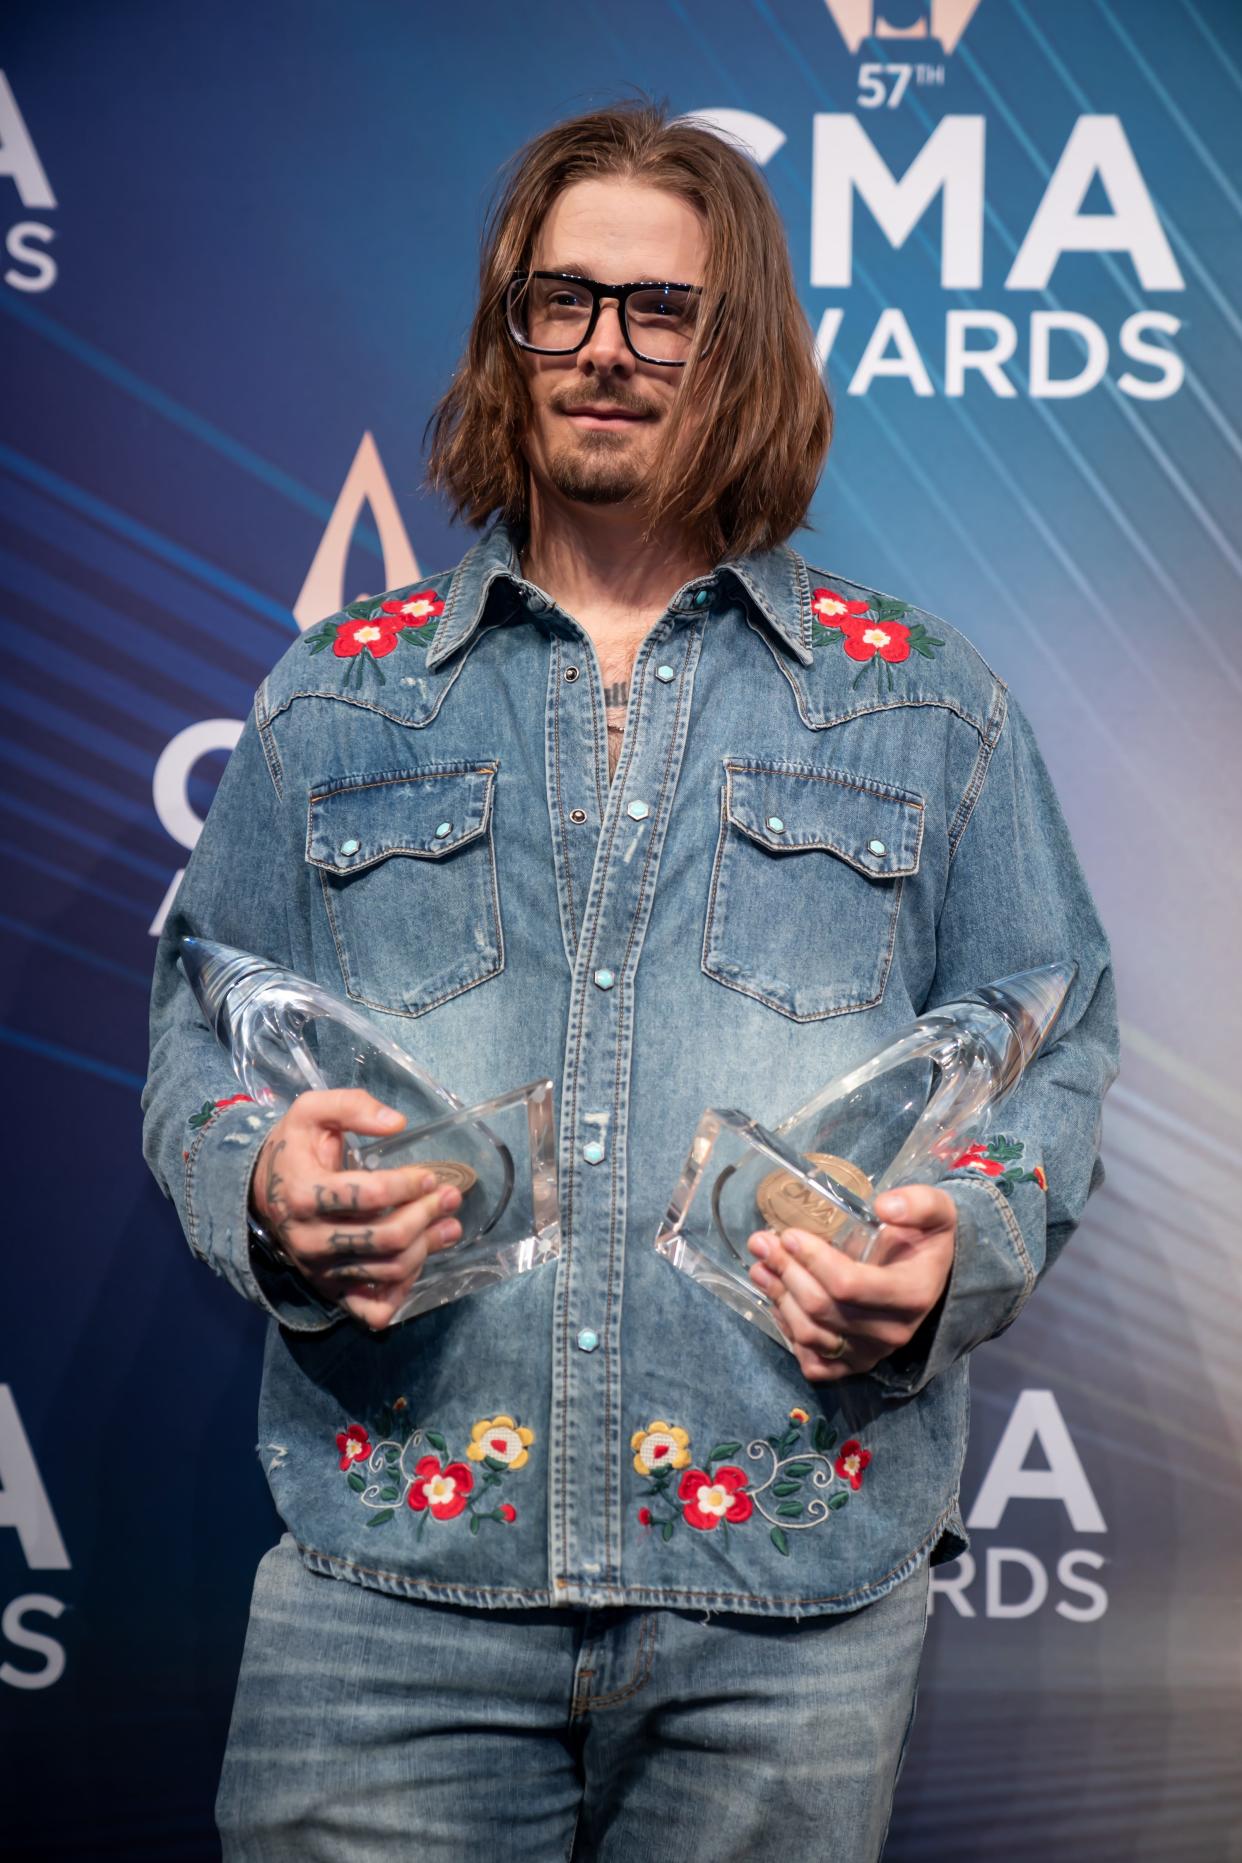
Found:
[[[164,920],[151,987],[151,1058],[142,1095],[143,1155],[194,1254],[281,1325],[324,1330],[343,1315],[251,1243],[250,1179],[277,1118],[242,1094],[177,967],[182,933],[298,969],[290,926],[305,926],[305,861],[281,796],[274,743],[251,712]],[[300,917],[298,917],[300,915]]]

